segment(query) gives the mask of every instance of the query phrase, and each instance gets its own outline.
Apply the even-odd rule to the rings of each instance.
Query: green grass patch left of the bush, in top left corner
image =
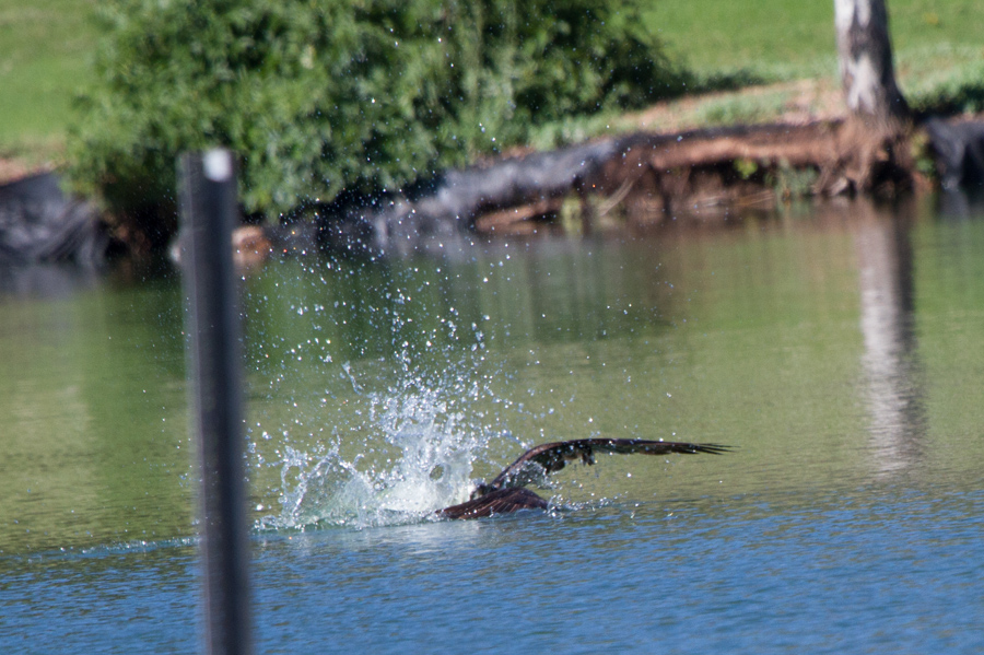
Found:
[[[0,156],[57,157],[92,77],[95,0],[0,0]]]

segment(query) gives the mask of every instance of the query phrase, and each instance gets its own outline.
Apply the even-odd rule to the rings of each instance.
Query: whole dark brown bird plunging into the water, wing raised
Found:
[[[622,455],[693,455],[706,453],[721,455],[731,446],[721,444],[691,444],[681,442],[647,441],[642,438],[577,438],[535,446],[507,466],[491,482],[479,482],[471,498],[458,505],[437,511],[441,518],[480,518],[493,514],[509,514],[519,510],[547,510],[549,503],[527,484],[542,483],[547,476],[557,472],[567,461],[581,459],[587,466],[595,464],[596,453]]]

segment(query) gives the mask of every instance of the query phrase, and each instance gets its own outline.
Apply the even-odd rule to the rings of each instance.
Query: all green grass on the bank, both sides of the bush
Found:
[[[0,0],[0,159],[26,166],[59,159],[73,120],[72,97],[93,74],[96,5],[95,0]],[[900,84],[915,106],[959,110],[984,102],[984,3],[891,0],[889,11]],[[812,79],[807,95],[820,100],[806,102],[816,102],[818,114],[831,93],[835,97],[829,0],[655,0],[646,20],[698,80],[736,72],[771,83]],[[801,85],[778,86],[700,103],[684,100],[673,112],[686,125],[768,120],[803,95]]]

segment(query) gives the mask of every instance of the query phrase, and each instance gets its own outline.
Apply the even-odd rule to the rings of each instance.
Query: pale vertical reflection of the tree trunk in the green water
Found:
[[[911,200],[876,208],[858,200],[862,363],[879,475],[900,471],[923,454],[925,390],[915,335]]]

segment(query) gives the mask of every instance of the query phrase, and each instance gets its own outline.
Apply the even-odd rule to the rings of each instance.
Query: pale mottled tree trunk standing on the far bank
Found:
[[[877,127],[905,121],[909,104],[895,85],[885,0],[834,0],[834,24],[847,108]]]

